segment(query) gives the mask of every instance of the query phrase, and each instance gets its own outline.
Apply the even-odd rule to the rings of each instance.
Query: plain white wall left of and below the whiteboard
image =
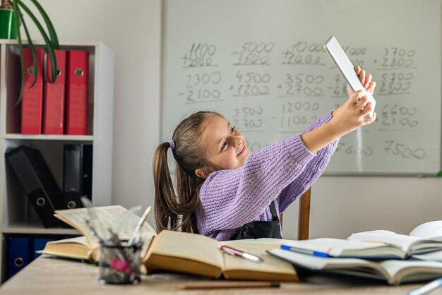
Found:
[[[153,204],[152,157],[160,140],[161,0],[40,0],[60,40],[93,40],[115,54],[112,203]],[[35,28],[33,39],[40,40]],[[407,234],[442,219],[441,179],[323,176],[313,186],[311,237],[389,229]],[[297,205],[297,204],[296,204]],[[150,219],[153,222],[153,219]],[[297,210],[284,215],[297,234]]]

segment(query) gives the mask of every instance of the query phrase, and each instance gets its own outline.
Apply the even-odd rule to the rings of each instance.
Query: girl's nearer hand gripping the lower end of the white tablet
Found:
[[[371,82],[372,81],[369,81],[369,84]],[[333,122],[335,131],[340,136],[354,131],[354,129],[361,126],[371,124],[376,120],[376,113],[374,113],[371,118],[366,118],[366,115],[373,110],[373,104],[369,102],[367,97],[361,97],[361,95],[362,90],[355,91],[350,95],[347,102],[344,102],[333,111],[333,119],[330,123]]]

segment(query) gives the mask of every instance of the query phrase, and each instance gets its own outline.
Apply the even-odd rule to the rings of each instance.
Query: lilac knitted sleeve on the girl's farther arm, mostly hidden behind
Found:
[[[330,121],[331,118],[332,114],[330,112],[328,115],[323,116],[323,118],[313,123],[306,131],[304,131],[304,133],[325,124]],[[321,176],[321,174],[323,174],[333,152],[335,152],[335,149],[338,146],[338,141],[339,140],[335,140],[333,143],[330,143],[330,145],[327,145],[325,148],[316,152],[316,157],[306,164],[304,171],[299,174],[297,179],[282,190],[277,202],[275,202],[280,213],[284,212],[294,200],[299,198],[299,196],[304,193],[316,181],[316,179]]]

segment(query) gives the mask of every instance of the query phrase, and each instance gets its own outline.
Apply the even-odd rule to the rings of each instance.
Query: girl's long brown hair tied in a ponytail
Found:
[[[199,191],[205,179],[196,176],[195,170],[204,167],[203,131],[210,116],[216,112],[191,114],[175,128],[172,143],[162,143],[155,150],[153,181],[155,185],[155,224],[157,231],[163,229],[192,231],[192,217],[198,204]],[[171,148],[177,162],[175,184],[167,165],[167,150]],[[181,222],[179,222],[181,219]],[[195,229],[193,229],[195,231]]]

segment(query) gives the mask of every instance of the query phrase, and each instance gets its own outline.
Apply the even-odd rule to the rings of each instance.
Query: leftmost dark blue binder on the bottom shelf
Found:
[[[10,236],[8,239],[8,278],[30,263],[30,238]]]

